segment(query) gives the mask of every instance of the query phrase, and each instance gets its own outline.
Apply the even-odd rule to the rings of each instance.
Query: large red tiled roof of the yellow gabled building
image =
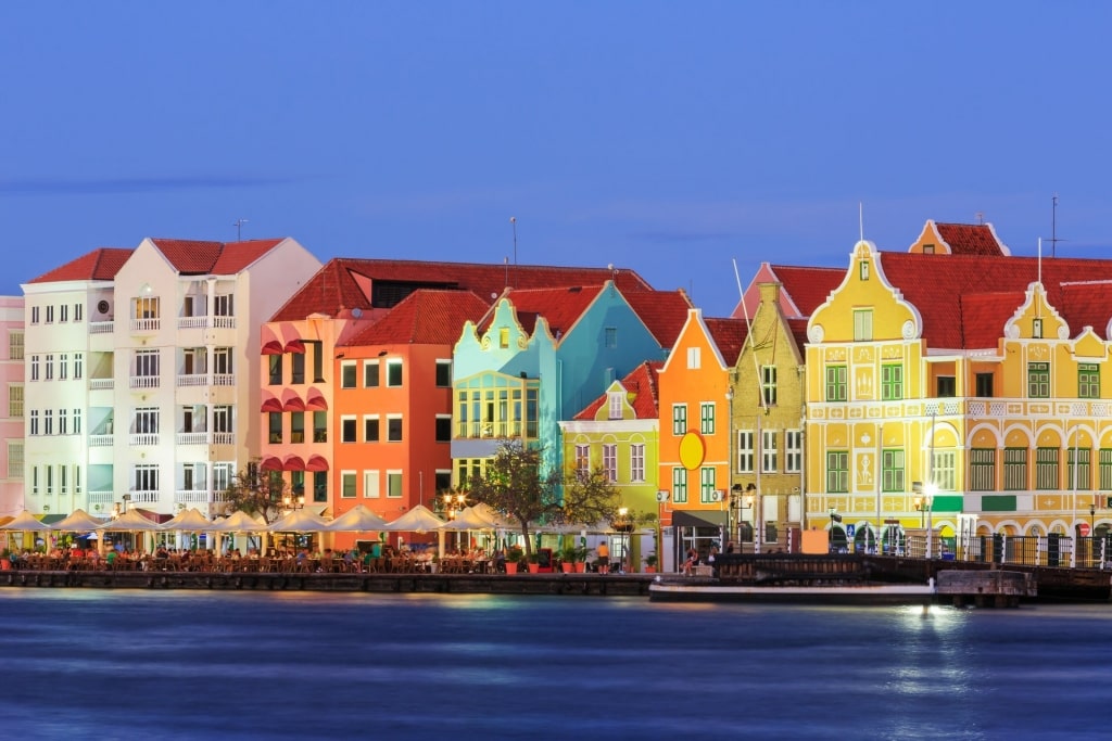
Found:
[[[1004,323],[1040,274],[1040,260],[1026,257],[951,254],[940,260],[934,254],[880,252],[878,260],[887,281],[919,310],[923,337],[935,349],[995,348]],[[1070,332],[1076,337],[1088,324],[1109,339],[1104,298],[1109,291],[1103,290],[1103,282],[1112,281],[1112,260],[1041,262],[1046,299],[1069,323]],[[1076,281],[1078,276],[1089,279],[1090,289]],[[1002,293],[1016,299],[1011,307]]]

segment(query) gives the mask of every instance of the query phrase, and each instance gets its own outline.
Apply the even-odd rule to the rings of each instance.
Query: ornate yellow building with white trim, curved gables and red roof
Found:
[[[807,327],[808,519],[857,548],[1105,532],[1110,289],[1112,261],[1013,257],[990,224],[858,242]]]

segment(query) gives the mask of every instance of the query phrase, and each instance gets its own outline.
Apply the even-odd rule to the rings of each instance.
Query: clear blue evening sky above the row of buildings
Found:
[[[634,268],[708,316],[983,213],[1112,257],[1099,2],[0,3],[0,292],[145,237]]]

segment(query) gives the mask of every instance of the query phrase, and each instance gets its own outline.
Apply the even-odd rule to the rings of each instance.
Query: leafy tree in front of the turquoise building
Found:
[[[468,479],[467,495],[517,521],[526,554],[533,553],[530,529],[560,512],[560,475],[542,472],[542,451],[519,441],[507,442],[487,464],[486,473]]]

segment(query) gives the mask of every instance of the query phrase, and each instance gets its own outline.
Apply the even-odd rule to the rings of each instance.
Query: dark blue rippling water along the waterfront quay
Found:
[[[9,589],[0,727],[23,739],[996,739],[1062,733],[1069,692],[1070,738],[1102,738],[1106,641],[1094,637],[1110,614]]]

